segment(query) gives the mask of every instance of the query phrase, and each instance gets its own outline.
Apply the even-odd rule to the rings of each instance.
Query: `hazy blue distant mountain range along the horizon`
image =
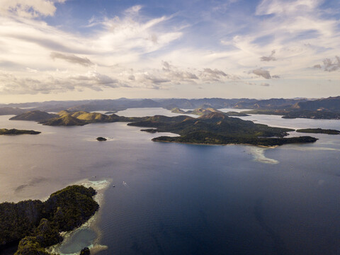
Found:
[[[29,108],[29,109],[28,109]],[[20,114],[27,111],[122,111],[128,108],[238,108],[252,109],[252,114],[279,114],[287,118],[340,118],[340,96],[312,99],[271,98],[265,100],[249,98],[156,98],[156,99],[106,99],[86,101],[46,101],[42,103],[0,104],[0,115]],[[285,114],[282,114],[285,113]],[[289,113],[289,114],[288,114]]]

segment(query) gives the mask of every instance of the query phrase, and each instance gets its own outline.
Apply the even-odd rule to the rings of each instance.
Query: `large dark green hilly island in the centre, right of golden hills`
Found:
[[[224,113],[212,112],[191,118],[186,115],[166,117],[155,115],[128,123],[137,127],[157,128],[157,132],[173,132],[177,137],[156,137],[154,142],[181,142],[205,145],[247,144],[276,146],[290,143],[316,142],[310,136],[288,137],[289,128],[273,128],[255,124],[250,120],[228,117]]]

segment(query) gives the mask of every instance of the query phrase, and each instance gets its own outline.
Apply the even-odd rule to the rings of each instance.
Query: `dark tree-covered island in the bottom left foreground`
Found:
[[[0,250],[20,240],[15,255],[50,255],[45,248],[62,242],[60,232],[80,227],[98,210],[94,195],[94,188],[73,185],[45,202],[0,203]]]

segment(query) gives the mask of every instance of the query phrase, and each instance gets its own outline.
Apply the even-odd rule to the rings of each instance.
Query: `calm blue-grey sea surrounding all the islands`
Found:
[[[118,113],[155,114],[176,115]],[[67,237],[63,254],[99,244],[98,255],[340,254],[340,135],[311,134],[319,138],[313,144],[273,149],[181,145],[152,142],[159,134],[126,123],[49,127],[10,117],[0,116],[0,128],[42,133],[0,136],[0,202],[45,199],[84,179],[110,181],[96,225]],[[242,119],[340,129],[340,120]]]

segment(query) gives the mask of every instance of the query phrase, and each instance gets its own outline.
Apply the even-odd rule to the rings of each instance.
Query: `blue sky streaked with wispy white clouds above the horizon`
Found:
[[[0,103],[339,95],[338,0],[0,0]]]

